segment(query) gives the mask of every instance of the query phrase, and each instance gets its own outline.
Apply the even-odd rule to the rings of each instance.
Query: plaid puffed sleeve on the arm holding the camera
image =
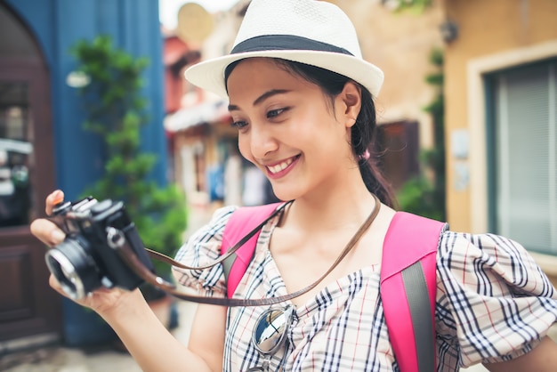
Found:
[[[176,261],[192,267],[213,263],[221,255],[222,232],[236,206],[217,209],[211,221],[197,230],[178,250]],[[226,297],[226,283],[222,265],[216,264],[206,270],[183,270],[174,268],[174,278],[182,286],[190,287],[198,295]]]

